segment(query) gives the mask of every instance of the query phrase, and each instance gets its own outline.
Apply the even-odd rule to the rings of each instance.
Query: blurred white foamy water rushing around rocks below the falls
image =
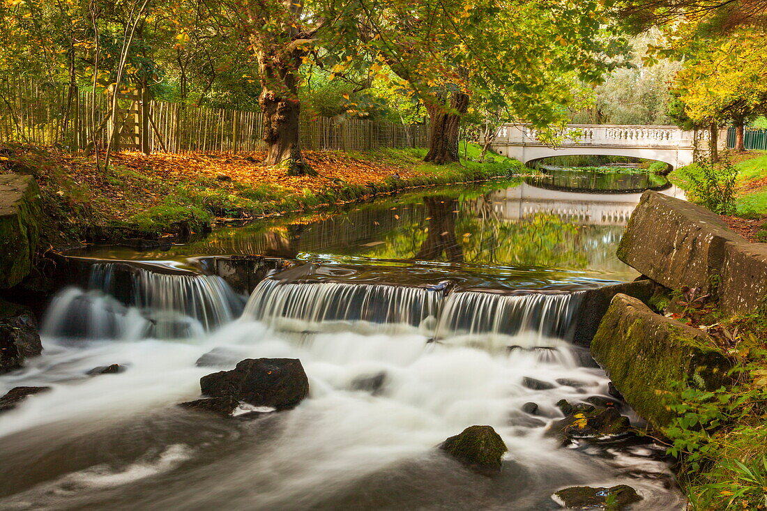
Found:
[[[395,293],[400,298],[393,299],[424,303]],[[430,341],[429,332],[410,328],[410,312],[387,312],[384,320],[399,329],[297,336],[322,325],[315,312],[325,298],[313,295],[320,302],[301,305],[309,312],[292,315],[298,328],[291,331],[272,321],[284,308],[273,315],[254,311],[261,298],[252,298],[244,319],[191,339],[45,338],[42,357],[0,377],[0,392],[53,387],[0,416],[0,467],[8,474],[0,479],[0,508],[547,509],[562,486],[618,483],[645,496],[637,509],[679,503],[657,479],[624,475],[637,460],[668,478],[666,466],[646,453],[589,455],[545,435],[561,417],[558,400],[604,394],[607,377],[579,364],[566,341],[542,337],[539,323],[509,330],[509,319],[492,326],[509,311],[504,300],[486,303],[495,308],[492,321],[475,318],[472,341],[461,343],[450,342],[450,334]],[[357,321],[374,325],[380,318]],[[47,325],[47,331],[56,330]],[[518,347],[503,349],[504,339]],[[211,352],[217,367],[197,367]],[[301,360],[311,395],[295,410],[238,420],[173,406],[199,397],[199,377],[262,357]],[[127,371],[85,375],[115,363]],[[532,390],[525,377],[552,388]],[[538,404],[535,417],[522,411],[528,402]],[[495,478],[473,474],[435,449],[474,424],[491,425],[509,447]]]

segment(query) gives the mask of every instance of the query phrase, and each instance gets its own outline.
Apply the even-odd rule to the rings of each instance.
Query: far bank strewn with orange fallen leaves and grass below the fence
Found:
[[[316,177],[292,177],[260,165],[262,153],[145,156],[123,153],[107,169],[92,158],[23,145],[0,147],[0,173],[31,174],[41,186],[44,242],[185,236],[216,223],[300,212],[413,186],[465,183],[525,172],[491,155],[445,166],[423,163],[425,150],[305,153]],[[462,144],[463,149],[463,144]],[[463,155],[463,151],[462,151]]]

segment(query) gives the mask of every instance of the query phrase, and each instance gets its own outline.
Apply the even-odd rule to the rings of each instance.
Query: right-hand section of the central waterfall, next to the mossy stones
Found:
[[[570,335],[581,295],[582,292],[526,295],[453,292],[439,315],[434,338],[493,346],[551,345]]]

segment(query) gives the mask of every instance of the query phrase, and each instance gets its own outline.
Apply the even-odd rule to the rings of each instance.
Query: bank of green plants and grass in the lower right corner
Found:
[[[728,387],[686,387],[668,404],[676,417],[661,433],[690,509],[767,509],[767,306],[728,317],[716,304],[679,303],[673,317],[707,331],[734,361]]]

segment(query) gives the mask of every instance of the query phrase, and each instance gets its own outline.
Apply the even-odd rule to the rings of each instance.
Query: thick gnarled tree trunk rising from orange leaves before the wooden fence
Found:
[[[281,48],[280,48],[281,49]],[[298,101],[298,68],[301,52],[285,54],[275,48],[258,51],[258,68],[262,84],[258,104],[264,115],[263,140],[267,145],[264,163],[280,166],[288,176],[316,176],[317,172],[301,155],[301,102]]]

